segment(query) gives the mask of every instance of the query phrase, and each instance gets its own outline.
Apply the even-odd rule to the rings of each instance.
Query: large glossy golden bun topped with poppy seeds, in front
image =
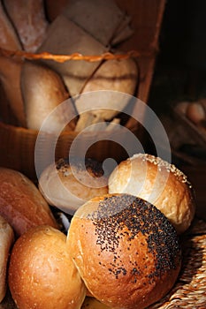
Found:
[[[179,274],[175,229],[156,207],[133,195],[107,194],[80,207],[67,245],[88,291],[112,309],[147,307]]]

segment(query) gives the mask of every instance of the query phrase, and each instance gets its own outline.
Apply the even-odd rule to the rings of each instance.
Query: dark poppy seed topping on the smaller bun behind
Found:
[[[102,163],[90,158],[62,158],[56,162],[56,169],[66,177],[71,174],[71,165],[78,171],[84,171],[86,169],[89,175],[93,177],[102,177],[104,174]]]

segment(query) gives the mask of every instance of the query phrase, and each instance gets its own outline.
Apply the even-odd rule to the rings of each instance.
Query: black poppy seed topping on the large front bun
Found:
[[[129,194],[112,195],[101,200],[88,218],[95,225],[96,245],[99,245],[100,252],[113,253],[108,271],[117,279],[119,275],[128,273],[120,258],[119,241],[126,240],[129,254],[130,246],[139,233],[145,237],[148,252],[153,254],[156,261],[155,271],[149,275],[149,283],[169,269],[179,267],[180,247],[177,233],[166,217],[149,202]],[[137,257],[138,254],[136,252]],[[147,255],[143,257],[143,260],[148,259]],[[134,261],[130,261],[130,265],[130,275],[135,283],[141,275],[141,269]]]

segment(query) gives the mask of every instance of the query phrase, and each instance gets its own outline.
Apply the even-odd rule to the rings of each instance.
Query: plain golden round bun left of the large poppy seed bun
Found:
[[[86,293],[65,234],[50,226],[19,237],[11,252],[9,287],[20,309],[79,309]]]

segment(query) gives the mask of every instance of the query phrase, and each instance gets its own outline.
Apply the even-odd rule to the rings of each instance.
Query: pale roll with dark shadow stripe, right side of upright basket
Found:
[[[82,95],[75,100],[79,113],[82,111],[81,109],[85,108],[85,104],[89,104],[89,100],[87,102],[86,99],[85,103],[78,102],[81,100],[81,97],[81,101],[84,101],[84,93],[90,92],[91,96],[93,95],[92,92],[98,90],[111,90],[111,93],[105,92],[103,94],[99,91],[99,100],[97,95],[94,94],[96,102],[102,102],[102,98],[105,96],[104,109],[95,109],[95,106],[90,104],[91,109],[84,114],[80,114],[80,119],[77,122],[75,131],[80,132],[85,129],[88,124],[110,121],[113,117],[116,117],[126,108],[131,97],[128,95],[124,100],[122,97],[122,100],[118,102],[118,104],[115,104],[117,101],[115,92],[133,95],[137,86],[137,80],[138,69],[134,59],[107,60],[103,62],[94,75],[88,79],[85,87],[83,87],[81,91]],[[117,109],[114,109],[115,105],[117,105]],[[91,120],[88,120],[89,117],[91,117]]]

